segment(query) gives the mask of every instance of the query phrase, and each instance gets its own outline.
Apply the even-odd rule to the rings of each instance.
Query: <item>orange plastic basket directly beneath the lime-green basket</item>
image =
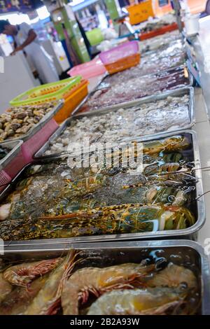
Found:
[[[57,123],[62,123],[71,116],[73,110],[83,101],[88,94],[88,81],[81,80],[81,82],[71,90],[71,94],[67,99],[64,99],[64,105],[56,113],[54,119]]]

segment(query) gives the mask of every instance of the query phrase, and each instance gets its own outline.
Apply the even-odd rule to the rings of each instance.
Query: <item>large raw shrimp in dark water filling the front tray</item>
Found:
[[[15,281],[10,284],[3,278],[1,274],[13,268],[16,261],[12,254],[11,258],[10,254],[3,255],[0,314],[200,314],[199,258],[194,258],[186,248],[125,246],[113,250],[70,250],[64,255],[54,253],[55,262],[60,260],[57,267],[38,278],[31,277],[29,286],[16,286]],[[33,252],[37,264],[48,261],[37,257],[40,253]],[[21,259],[17,259],[18,266],[31,266],[25,257],[20,264]],[[188,267],[183,265],[186,261]]]

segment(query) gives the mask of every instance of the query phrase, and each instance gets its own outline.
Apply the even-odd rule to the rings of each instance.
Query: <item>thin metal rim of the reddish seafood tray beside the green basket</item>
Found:
[[[193,86],[193,82],[194,82],[194,80],[193,80],[193,75],[192,75],[192,73],[190,72],[190,70],[188,69],[188,67],[186,66],[186,65],[181,65],[181,66],[174,66],[174,67],[172,67],[171,69],[167,69],[166,71],[170,71],[170,70],[173,70],[173,69],[178,69],[178,68],[185,68],[186,69],[186,71],[188,72],[188,81],[189,81],[189,83],[188,83],[188,85],[186,85],[185,87],[191,87],[191,86]],[[162,72],[165,72],[165,71],[162,71]],[[162,73],[162,72],[156,72],[156,73]],[[153,74],[148,74],[148,76],[153,76],[155,73],[153,73]],[[107,74],[105,74],[104,75],[104,77],[102,78],[102,80],[96,85],[96,87],[94,87],[94,90],[92,90],[92,92],[90,92],[90,94],[88,94],[87,95],[87,97],[85,97],[85,99],[83,99],[83,102],[81,102],[77,107],[76,107],[76,109],[72,112],[72,115],[75,115],[76,113],[78,113],[79,111],[80,111],[80,109],[82,108],[82,106],[88,101],[88,99],[90,99],[90,97],[92,97],[92,95],[94,94],[94,92],[97,92],[97,90],[99,90],[99,89],[103,89],[104,87],[103,87],[103,85],[102,85],[102,83],[104,83],[104,80],[106,80],[106,77],[107,76],[109,76],[109,73],[107,73]],[[141,77],[139,77],[139,79],[140,79]],[[179,90],[179,89],[183,89],[183,87],[181,87],[181,88],[179,88],[179,87],[177,87],[177,88],[174,88],[173,90],[168,90],[168,91],[174,91],[174,90]],[[167,92],[167,90],[166,90],[166,92]],[[161,92],[160,92],[161,93]],[[157,93],[157,95],[158,95],[158,93]],[[150,97],[150,96],[147,96],[147,97]],[[146,97],[141,97],[141,98],[139,98],[139,99],[144,99],[144,98],[146,98]],[[138,99],[134,99],[134,101],[138,101]],[[132,102],[132,101],[130,101],[130,102]],[[116,105],[122,105],[123,104],[123,102],[122,103],[118,103],[118,104],[116,104]],[[106,109],[106,108],[113,108],[113,105],[112,106],[102,106],[102,107],[100,107],[99,109],[97,109],[97,110],[92,110],[92,111],[100,111],[100,109]],[[91,111],[91,112],[92,112]],[[84,114],[86,114],[86,113],[88,113],[89,111],[87,111],[87,112],[83,112]],[[80,113],[81,114],[81,113]]]

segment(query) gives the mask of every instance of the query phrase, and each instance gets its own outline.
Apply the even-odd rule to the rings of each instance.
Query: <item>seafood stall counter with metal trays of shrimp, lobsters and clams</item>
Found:
[[[179,31],[139,51],[80,104],[1,114],[1,315],[210,314],[202,88]]]

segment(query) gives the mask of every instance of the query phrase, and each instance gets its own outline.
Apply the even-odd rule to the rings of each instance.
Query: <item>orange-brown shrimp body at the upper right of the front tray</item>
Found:
[[[169,262],[169,265],[165,269],[155,273],[154,277],[146,282],[146,286],[150,287],[176,288],[181,285],[188,288],[195,288],[197,286],[197,279],[190,269],[175,265],[173,262]]]

